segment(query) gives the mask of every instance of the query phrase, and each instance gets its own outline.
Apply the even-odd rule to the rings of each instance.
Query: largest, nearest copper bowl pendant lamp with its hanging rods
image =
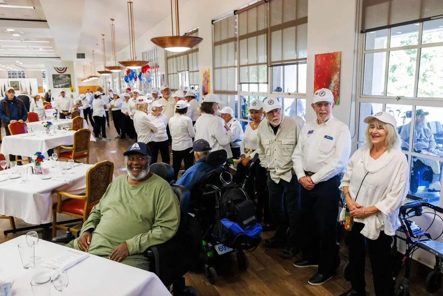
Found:
[[[175,36],[174,36],[174,24],[172,22],[172,0],[171,0],[171,26],[172,36],[161,36],[152,38],[152,43],[164,48],[167,51],[183,52],[196,46],[203,41],[203,38],[194,36],[180,36],[180,24],[179,24],[179,0],[175,0]]]

